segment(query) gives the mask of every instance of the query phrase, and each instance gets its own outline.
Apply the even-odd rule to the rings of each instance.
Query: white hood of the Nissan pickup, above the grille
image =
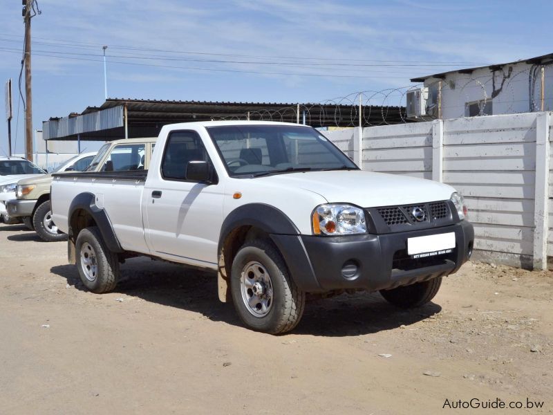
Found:
[[[275,174],[253,180],[268,185],[299,187],[320,194],[328,203],[352,203],[362,208],[444,201],[455,189],[435,181],[360,170]]]

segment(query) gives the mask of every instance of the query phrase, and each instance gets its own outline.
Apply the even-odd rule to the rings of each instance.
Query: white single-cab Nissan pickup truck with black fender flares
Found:
[[[54,174],[53,218],[94,293],[147,255],[214,270],[245,325],[290,331],[306,293],[426,304],[469,259],[453,187],[363,172],[319,131],[276,122],[162,128],[148,171]]]

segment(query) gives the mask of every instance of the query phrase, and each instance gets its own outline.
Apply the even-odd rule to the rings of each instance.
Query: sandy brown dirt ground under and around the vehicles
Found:
[[[19,225],[0,225],[0,264],[0,413],[553,413],[553,273],[469,263],[415,311],[341,295],[273,336],[207,273],[132,259],[95,295],[66,243]]]

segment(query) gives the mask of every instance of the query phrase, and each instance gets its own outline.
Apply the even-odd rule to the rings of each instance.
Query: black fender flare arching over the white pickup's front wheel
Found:
[[[301,232],[288,216],[274,206],[265,203],[249,203],[229,213],[221,226],[218,255],[229,234],[241,226],[254,226],[269,234],[279,248],[294,282],[303,291],[320,291],[315,271],[301,241]]]

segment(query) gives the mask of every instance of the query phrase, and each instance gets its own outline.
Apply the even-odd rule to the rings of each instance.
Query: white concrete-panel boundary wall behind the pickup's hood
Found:
[[[325,135],[364,170],[456,187],[467,200],[477,258],[543,269],[553,256],[550,118],[456,118]]]

